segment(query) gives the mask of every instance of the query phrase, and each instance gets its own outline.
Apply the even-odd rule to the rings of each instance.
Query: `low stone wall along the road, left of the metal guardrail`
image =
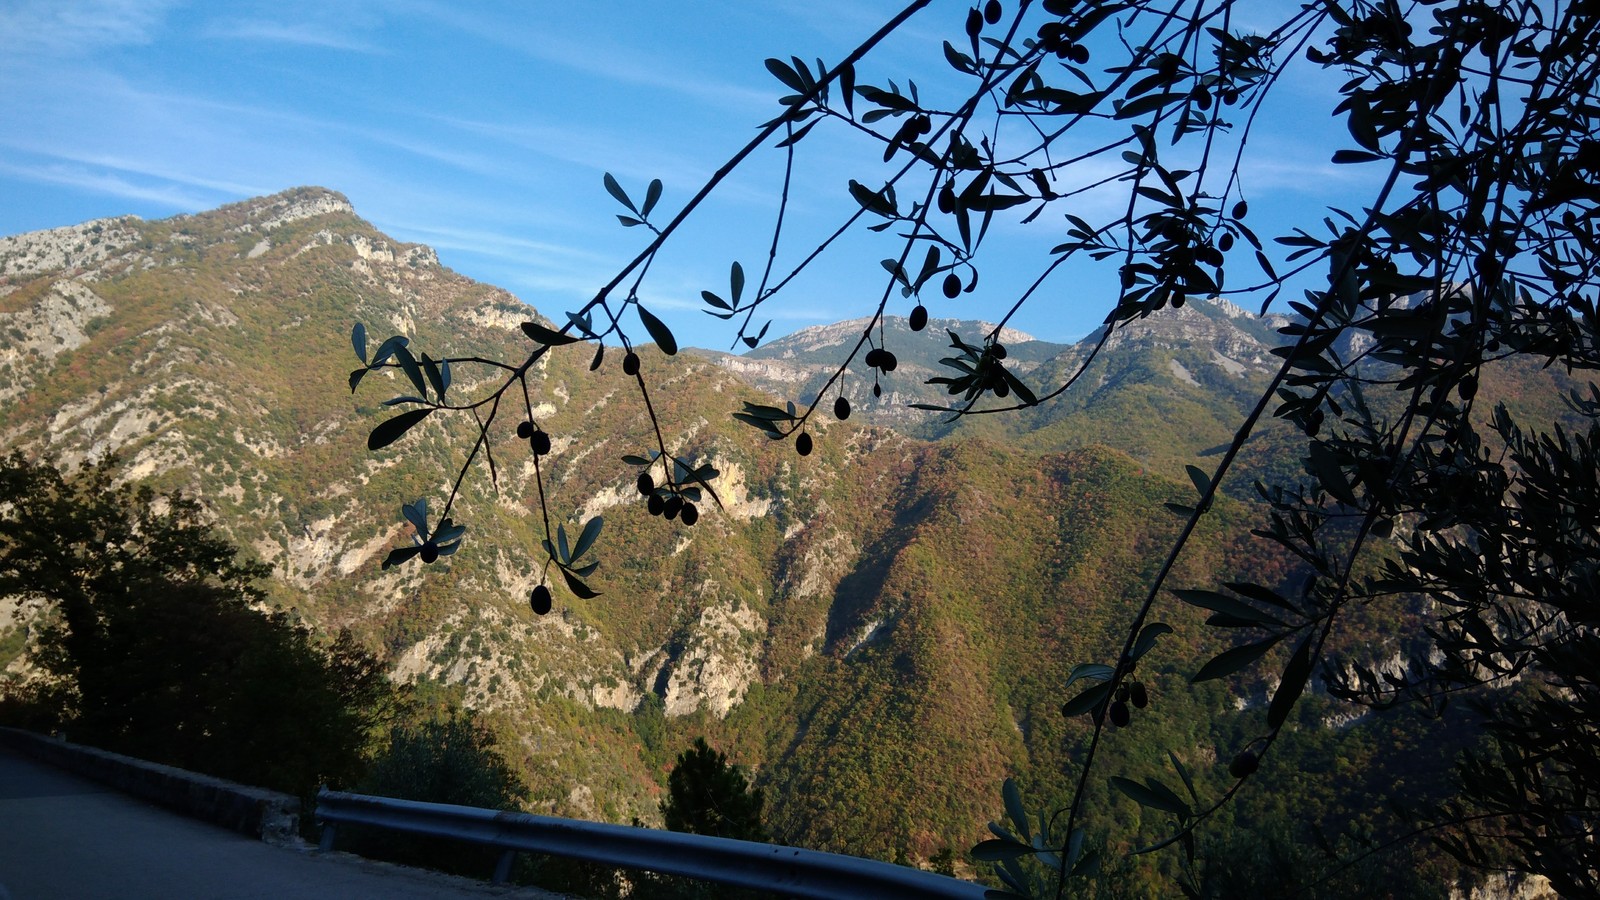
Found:
[[[269,844],[301,844],[299,798],[19,729],[0,729],[0,743],[190,818]]]

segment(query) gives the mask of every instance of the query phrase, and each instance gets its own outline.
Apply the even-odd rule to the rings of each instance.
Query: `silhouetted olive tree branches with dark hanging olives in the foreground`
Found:
[[[539,469],[550,440],[533,418],[530,372],[555,346],[594,344],[595,368],[608,346],[619,346],[622,370],[656,421],[650,373],[634,341],[648,336],[669,356],[677,343],[646,307],[651,261],[736,167],[758,152],[779,154],[786,165],[774,186],[782,203],[771,251],[754,277],[734,261],[726,287],[702,293],[706,311],[730,320],[736,341],[757,346],[766,307],[802,271],[843,242],[862,240],[862,231],[898,248],[883,259],[870,327],[814,400],[731,410],[768,437],[792,440],[802,455],[813,448],[814,416],[848,415],[840,399],[851,362],[875,372],[874,391],[891,378],[896,359],[883,328],[891,306],[910,306],[912,327],[922,328],[928,306],[976,288],[997,216],[1056,240],[1030,285],[1010,298],[1002,327],[1024,304],[1051,303],[1053,285],[1093,264],[1120,275],[1094,352],[1118,328],[1194,298],[1226,296],[1262,311],[1282,298],[1294,314],[1259,402],[1205,468],[1189,468],[1195,498],[1174,508],[1184,525],[1133,612],[1120,653],[1083,661],[1062,685],[1064,714],[1086,716],[1091,727],[1078,799],[1048,817],[1046,834],[1029,834],[1029,817],[1008,791],[1021,833],[997,825],[997,838],[976,850],[1000,865],[1011,890],[1027,890],[1019,857],[1043,860],[1058,894],[1093,870],[1082,849],[1082,788],[1104,769],[1101,735],[1147,700],[1139,663],[1170,631],[1157,612],[1173,599],[1208,610],[1211,626],[1238,636],[1234,649],[1197,666],[1197,681],[1262,658],[1283,663],[1261,730],[1237,749],[1221,794],[1203,796],[1176,756],[1170,783],[1112,781],[1171,820],[1171,838],[1160,846],[1194,855],[1197,823],[1250,778],[1318,673],[1333,695],[1371,706],[1437,708],[1454,695],[1520,682],[1520,698],[1488,711],[1496,756],[1469,762],[1454,806],[1434,810],[1419,830],[1474,865],[1595,890],[1600,786],[1589,772],[1600,770],[1600,391],[1566,397],[1570,421],[1582,424],[1560,429],[1486,408],[1477,388],[1485,372],[1515,359],[1565,368],[1578,384],[1600,367],[1600,141],[1592,138],[1600,133],[1600,5],[986,0],[954,19],[925,6],[910,3],[838,62],[768,59],[787,91],[778,115],[670,216],[659,211],[659,181],[637,195],[606,176],[621,224],[650,237],[558,328],[526,323],[525,359],[416,357],[403,336],[368,356],[365,331],[355,328],[362,368],[350,376],[352,389],[374,368],[400,368],[416,388],[392,400],[408,408],[381,423],[370,447],[394,442],[435,413],[472,415],[478,424],[443,519],[430,528],[426,506],[408,504],[416,546],[397,549],[389,562],[427,562],[461,546],[462,525],[448,516],[456,492],[480,458],[493,477],[490,436],[517,428],[539,480],[547,569],[574,594],[595,593],[589,578],[600,522],[574,524],[576,540],[565,524],[552,527]],[[906,74],[869,74],[874,48],[918,16],[949,27],[949,70],[934,78],[936,93]],[[1253,30],[1240,26],[1245,21]],[[1286,234],[1259,235],[1246,224],[1251,138],[1282,109],[1267,98],[1296,67],[1317,72],[1330,88],[1323,109],[1294,114],[1339,120],[1347,138],[1326,147],[1326,159],[1370,173],[1373,187],[1341,208],[1307,211]],[[792,184],[806,141],[824,130],[854,135],[874,151],[848,183],[854,203],[837,231],[790,245],[789,197],[840,189]],[[1106,208],[1106,197],[1118,199],[1114,211],[1090,218],[1088,210]],[[1048,402],[1094,359],[1090,354],[1061,383],[1029,384],[1008,368],[998,335],[998,327],[950,335],[946,372],[933,380],[949,391],[938,415]],[[451,365],[490,367],[499,378],[475,396],[446,397]],[[1170,585],[1173,562],[1240,450],[1274,416],[1298,429],[1304,476],[1259,487],[1267,509],[1259,533],[1296,554],[1306,575],[1293,585]],[[656,424],[654,448],[624,464],[637,474],[650,512],[693,525],[702,496],[715,500],[717,472],[674,456]],[[531,602],[547,612],[549,588],[541,585]],[[1408,636],[1410,665],[1378,671],[1331,658],[1330,642],[1352,610],[1373,604],[1426,612],[1424,631]],[[1198,894],[1203,886],[1184,889]]]

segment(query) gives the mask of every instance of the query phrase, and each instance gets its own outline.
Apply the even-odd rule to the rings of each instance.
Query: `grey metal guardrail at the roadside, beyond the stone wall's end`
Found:
[[[326,788],[317,794],[317,820],[323,823],[325,850],[333,849],[341,825],[370,825],[499,847],[504,854],[494,881],[501,882],[510,876],[518,852],[536,852],[818,900],[984,897],[984,887],[970,881],[842,854]]]

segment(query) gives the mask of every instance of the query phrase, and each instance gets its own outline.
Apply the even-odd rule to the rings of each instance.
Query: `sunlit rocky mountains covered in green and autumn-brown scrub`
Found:
[[[461,552],[426,570],[381,570],[408,540],[398,503],[442,500],[475,432],[470,420],[435,416],[403,447],[368,453],[386,394],[363,386],[352,399],[347,386],[352,322],[450,356],[520,359],[518,323],[531,315],[315,187],[0,239],[0,436],[62,464],[117,450],[130,477],[198,496],[270,565],[270,602],[320,629],[349,626],[397,679],[461,685],[538,812],[659,823],[670,759],[706,735],[754,767],[778,841],[914,862],[954,847],[962,860],[1000,815],[1003,778],[1030,798],[1067,796],[1083,735],[1059,713],[1067,673],[1115,655],[1123,610],[1178,527],[1162,504],[1192,496],[1182,466],[1229,439],[1285,322],[1221,301],[1165,311],[1117,335],[1059,400],[949,426],[904,407],[944,402],[923,381],[946,330],[981,338],[989,327],[936,320],[912,333],[891,317],[886,341],[901,364],[882,400],[853,389],[859,415],[813,421],[845,439],[819,440],[803,460],[730,412],[774,394],[808,399],[861,322],[741,357],[646,348],[666,442],[723,472],[723,508],[707,504],[694,528],[650,517],[618,463],[642,452],[648,429],[626,376],[614,365],[590,373],[582,346],[557,348],[533,397],[554,437],[542,461],[552,509],[603,514],[606,557],[592,580],[600,597],[568,597],[541,618],[526,597],[542,532],[512,428],[493,434],[499,487],[474,476],[458,503],[470,525]],[[1070,372],[1088,346],[1002,338],[1014,372],[1038,384]],[[454,391],[466,396],[478,376],[458,367]],[[1544,375],[1510,372],[1485,391],[1549,396],[1525,389],[1534,378]],[[1285,464],[1272,448],[1269,429],[1246,450],[1253,468],[1179,562],[1176,585],[1296,575],[1240,536],[1251,472]],[[1168,617],[1178,634],[1141,669],[1150,708],[1110,740],[1118,759],[1152,772],[1165,764],[1155,748],[1187,748],[1190,769],[1211,778],[1234,727],[1214,713],[1261,703],[1266,685],[1237,697],[1226,682],[1189,687],[1189,669],[1208,658],[1197,642],[1213,639],[1190,613]],[[26,671],[37,615],[46,613],[0,618],[0,663],[13,674]],[[1374,657],[1397,650],[1387,626],[1370,623]],[[1386,814],[1346,806],[1371,796],[1349,793],[1357,777],[1346,762],[1373,741],[1413,741],[1418,770],[1358,778],[1437,788],[1422,775],[1448,751],[1437,725],[1333,727],[1317,701],[1301,714],[1306,727],[1283,754],[1299,772],[1269,773],[1243,799],[1232,814],[1242,834],[1282,838],[1285,810],[1302,809],[1290,794],[1323,810],[1330,833],[1389,828]],[[1094,820],[1123,828],[1102,836],[1112,847],[1155,833],[1141,831],[1134,804],[1094,790]]]

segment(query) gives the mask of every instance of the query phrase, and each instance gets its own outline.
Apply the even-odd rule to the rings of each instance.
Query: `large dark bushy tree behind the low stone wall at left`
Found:
[[[349,783],[392,709],[379,661],[261,609],[259,564],[179,495],[117,484],[107,458],[67,476],[0,464],[0,594],[43,601],[43,684],[11,685],[35,724],[251,785]]]

